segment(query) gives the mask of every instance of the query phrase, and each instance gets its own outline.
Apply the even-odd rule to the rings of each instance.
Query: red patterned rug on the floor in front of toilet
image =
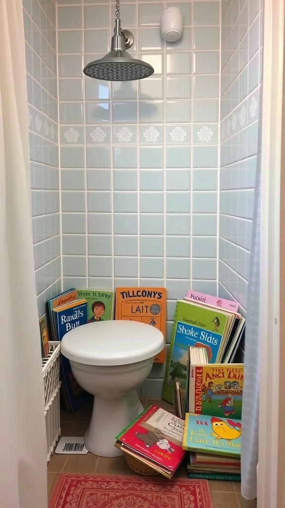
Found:
[[[206,480],[60,473],[49,508],[213,508]]]

